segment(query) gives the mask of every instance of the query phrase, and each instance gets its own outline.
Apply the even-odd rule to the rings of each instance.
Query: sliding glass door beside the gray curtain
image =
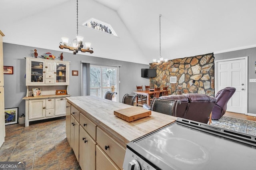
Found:
[[[107,91],[117,92],[118,67],[90,65],[90,95],[104,98]],[[118,101],[114,95],[112,101]]]

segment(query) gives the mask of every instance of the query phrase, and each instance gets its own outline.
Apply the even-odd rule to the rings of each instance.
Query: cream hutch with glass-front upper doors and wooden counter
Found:
[[[26,119],[29,122],[66,115],[66,97],[69,85],[70,61],[58,61],[25,57],[26,59]],[[40,96],[33,96],[33,88],[41,90]],[[56,95],[56,90],[66,94]]]

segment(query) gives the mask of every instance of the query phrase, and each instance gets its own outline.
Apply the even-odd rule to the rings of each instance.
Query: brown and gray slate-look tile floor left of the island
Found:
[[[6,125],[0,161],[25,161],[26,170],[80,170],[66,140],[66,119]]]

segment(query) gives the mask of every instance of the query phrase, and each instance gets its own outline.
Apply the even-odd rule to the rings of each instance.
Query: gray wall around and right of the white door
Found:
[[[231,59],[237,57],[248,56],[248,113],[256,114],[255,95],[256,83],[250,83],[249,79],[256,79],[255,61],[256,61],[256,47],[231,51],[226,53],[214,54],[215,60]]]

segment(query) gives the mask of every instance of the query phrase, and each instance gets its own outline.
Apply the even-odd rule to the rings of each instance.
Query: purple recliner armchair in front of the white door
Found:
[[[235,93],[235,91],[236,88],[234,87],[226,87],[225,89],[218,91],[215,96],[217,102],[212,109],[212,119],[218,120],[225,114],[227,109],[227,103],[232,95]]]

